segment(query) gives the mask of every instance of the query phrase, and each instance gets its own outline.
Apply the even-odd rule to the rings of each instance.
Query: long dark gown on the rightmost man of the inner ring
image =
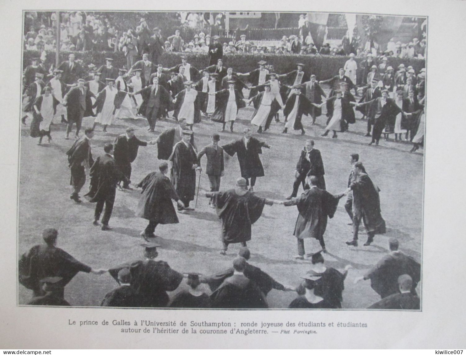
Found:
[[[349,185],[353,191],[353,213],[363,218],[367,232],[385,233],[385,221],[380,210],[380,189],[367,174],[359,173]]]

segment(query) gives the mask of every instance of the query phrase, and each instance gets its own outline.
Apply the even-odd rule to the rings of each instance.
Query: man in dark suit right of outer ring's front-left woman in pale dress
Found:
[[[79,79],[78,86],[69,90],[65,97],[63,97],[63,105],[68,107],[66,139],[69,139],[69,133],[73,128],[73,123],[76,123],[76,138],[79,136],[82,117],[84,116],[87,105],[91,102],[90,97],[96,98],[96,96],[84,86],[84,79]]]

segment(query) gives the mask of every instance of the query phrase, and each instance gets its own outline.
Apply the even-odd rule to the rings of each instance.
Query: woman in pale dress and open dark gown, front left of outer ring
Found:
[[[42,137],[48,137],[48,143],[52,140],[50,136],[50,123],[55,116],[57,106],[60,102],[51,94],[50,87],[44,89],[44,95],[35,99],[33,104],[33,121],[31,122],[31,137],[40,137],[39,143],[42,143]]]

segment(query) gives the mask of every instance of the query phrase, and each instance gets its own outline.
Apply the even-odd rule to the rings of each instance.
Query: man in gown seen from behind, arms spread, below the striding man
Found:
[[[293,258],[301,260],[304,259],[305,238],[317,239],[323,252],[327,252],[323,240],[327,218],[333,218],[338,202],[344,196],[344,193],[332,195],[328,191],[319,189],[317,187],[319,179],[315,176],[308,176],[306,182],[310,188],[305,190],[300,197],[280,203],[285,206],[298,207],[299,214],[293,233],[298,242],[298,254]]]

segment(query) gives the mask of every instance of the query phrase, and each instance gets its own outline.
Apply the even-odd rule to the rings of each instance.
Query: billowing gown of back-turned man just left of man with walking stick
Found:
[[[142,187],[136,216],[159,224],[178,223],[178,216],[172,199],[178,201],[178,194],[170,179],[161,172],[151,172],[137,184]]]

